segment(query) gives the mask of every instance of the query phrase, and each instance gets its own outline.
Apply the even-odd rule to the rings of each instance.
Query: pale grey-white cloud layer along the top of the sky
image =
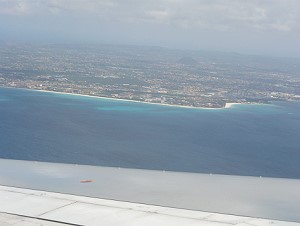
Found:
[[[0,14],[79,14],[183,29],[298,32],[298,0],[0,0]]]

